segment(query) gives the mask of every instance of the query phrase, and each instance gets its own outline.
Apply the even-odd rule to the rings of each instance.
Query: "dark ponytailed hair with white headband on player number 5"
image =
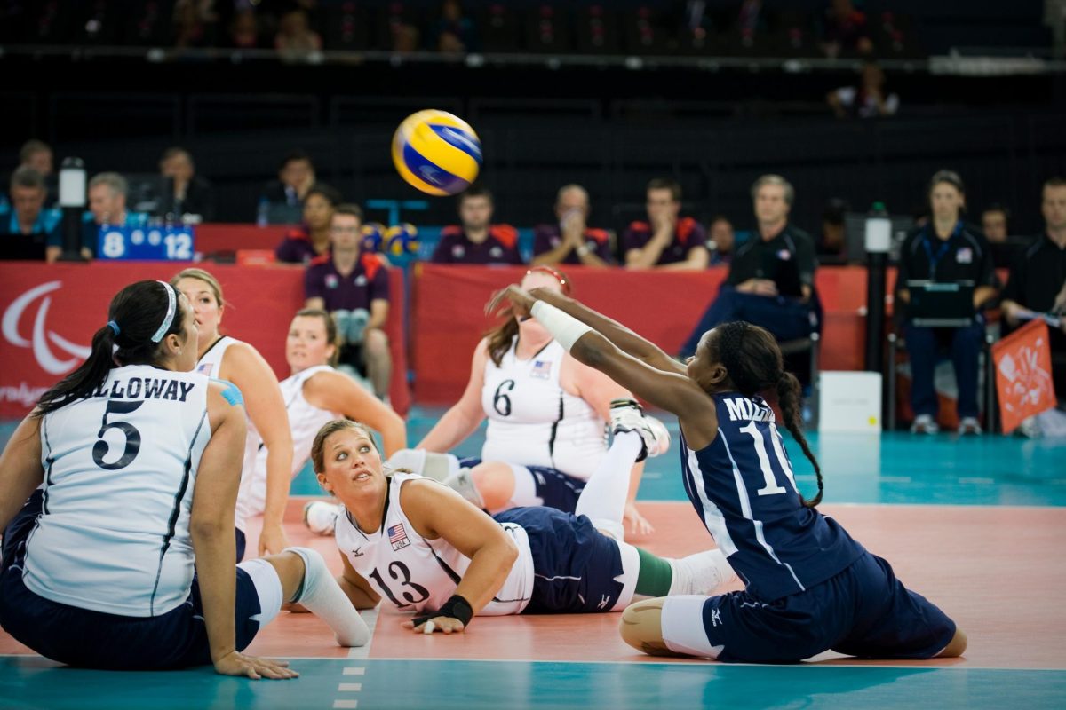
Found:
[[[174,296],[174,319],[158,342]],[[163,339],[181,333],[184,312],[180,295],[162,281],[138,281],[119,291],[108,309],[110,321],[93,335],[88,359],[41,396],[33,416],[43,416],[76,399],[90,396],[120,365],[158,364]]]

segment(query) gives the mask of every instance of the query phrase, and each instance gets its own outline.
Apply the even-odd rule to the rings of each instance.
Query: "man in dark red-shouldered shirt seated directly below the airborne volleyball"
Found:
[[[459,195],[462,226],[440,230],[440,243],[430,260],[435,264],[521,264],[518,230],[492,225],[492,193],[469,187]]]

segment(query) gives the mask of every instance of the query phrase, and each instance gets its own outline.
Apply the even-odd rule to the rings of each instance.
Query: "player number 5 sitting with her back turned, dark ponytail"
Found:
[[[244,407],[231,383],[190,371],[185,297],[139,281],[109,318],[0,456],[0,625],[70,665],[213,663],[251,678],[296,675],[240,653],[285,601],[341,645],[365,644],[367,625],[314,550],[236,564]]]

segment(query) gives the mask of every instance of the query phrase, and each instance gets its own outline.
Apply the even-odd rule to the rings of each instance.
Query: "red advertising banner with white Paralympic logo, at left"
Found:
[[[304,303],[304,270],[209,264],[222,283],[227,307],[222,330],[254,345],[278,379],[289,376],[285,339]],[[183,264],[165,262],[93,264],[0,264],[0,417],[25,416],[41,394],[88,354],[93,333],[108,320],[108,304],[122,286],[140,279],[167,280]],[[410,404],[403,337],[403,278],[392,271],[392,406]]]

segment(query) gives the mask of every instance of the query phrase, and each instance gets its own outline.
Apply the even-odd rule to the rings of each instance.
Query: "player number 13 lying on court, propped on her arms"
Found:
[[[656,557],[603,534],[620,533],[625,480],[661,446],[631,400],[612,410],[615,439],[577,505],[486,515],[452,489],[386,473],[371,432],[330,422],[314,439],[319,482],[344,505],[337,522],[343,573],[358,609],[417,614],[415,631],[465,630],[474,614],[620,610],[636,597],[709,593],[736,579],[718,550]]]

